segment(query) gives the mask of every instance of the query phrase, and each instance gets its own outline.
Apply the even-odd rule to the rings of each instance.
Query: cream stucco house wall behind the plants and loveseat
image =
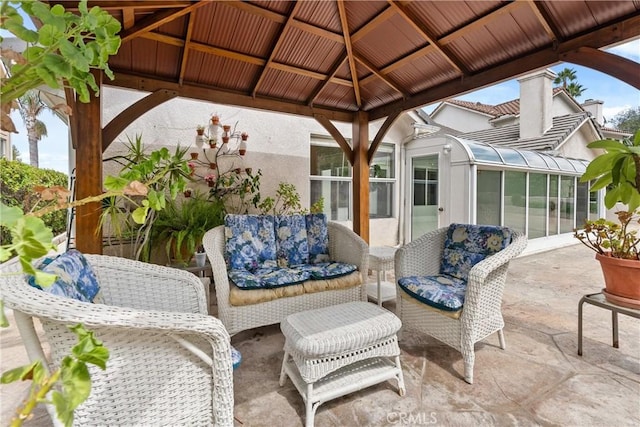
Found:
[[[103,96],[103,126],[137,100],[146,96],[143,92],[134,92],[105,86]],[[148,111],[132,123],[104,153],[104,157],[113,156],[126,150],[124,142],[132,140],[136,134],[142,135],[142,140],[150,150],[160,146],[191,146],[190,151],[197,150],[195,145],[196,126],[207,125],[211,115],[220,116],[221,124],[237,123],[237,130],[248,132],[248,148],[244,159],[237,167],[251,167],[254,172],[262,171],[260,191],[263,197],[275,195],[278,184],[282,181],[295,184],[300,194],[303,207],[310,205],[310,140],[312,135],[329,137],[329,133],[314,119],[294,115],[231,107],[209,102],[176,98],[165,102]],[[411,123],[415,119],[408,114],[400,117],[389,130],[383,142],[400,144],[413,134]],[[369,136],[376,135],[382,121],[370,124]],[[334,122],[346,138],[351,138],[352,124]],[[206,148],[207,155],[212,159],[212,150]],[[400,200],[400,160],[399,150],[396,148],[396,185],[394,191],[394,209],[391,218],[372,219],[370,223],[371,246],[394,246],[399,242],[398,215]],[[237,160],[236,160],[237,161]],[[115,174],[119,168],[115,165],[105,165],[105,175]],[[204,168],[206,169],[206,168]],[[198,170],[199,174],[206,171]],[[206,191],[204,183],[191,185],[201,191]],[[325,201],[326,202],[326,201]],[[351,227],[351,221],[344,221]]]

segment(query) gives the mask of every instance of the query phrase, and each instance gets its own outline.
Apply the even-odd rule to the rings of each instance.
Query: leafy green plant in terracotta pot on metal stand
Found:
[[[574,236],[596,252],[607,301],[640,308],[640,228],[634,228],[635,223],[640,225],[640,130],[633,139],[594,141],[587,147],[603,149],[604,153],[591,161],[581,181],[595,179],[591,191],[607,187],[607,209],[623,203],[627,210],[616,212],[619,224],[602,218],[588,220]]]

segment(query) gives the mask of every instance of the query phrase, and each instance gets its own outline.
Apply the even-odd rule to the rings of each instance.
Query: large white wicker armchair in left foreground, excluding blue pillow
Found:
[[[90,365],[91,394],[74,425],[233,425],[229,334],[207,314],[204,287],[186,271],[86,255],[100,283],[91,304],[32,288],[16,262],[3,265],[0,297],[14,312],[31,360],[56,366],[82,323],[109,349],[107,369]],[[45,352],[33,325],[42,323]],[[58,420],[53,416],[54,424]]]

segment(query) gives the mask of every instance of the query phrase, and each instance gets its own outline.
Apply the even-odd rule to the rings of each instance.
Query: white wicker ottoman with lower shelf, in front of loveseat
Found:
[[[280,385],[287,378],[302,395],[306,426],[318,406],[331,399],[395,378],[405,393],[396,333],[402,326],[390,311],[350,302],[288,316]]]

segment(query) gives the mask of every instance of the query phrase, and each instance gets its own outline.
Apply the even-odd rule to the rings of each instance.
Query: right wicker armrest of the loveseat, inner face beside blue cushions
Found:
[[[329,232],[329,254],[333,261],[358,266],[366,277],[369,268],[369,245],[353,230],[334,221],[327,223]]]

